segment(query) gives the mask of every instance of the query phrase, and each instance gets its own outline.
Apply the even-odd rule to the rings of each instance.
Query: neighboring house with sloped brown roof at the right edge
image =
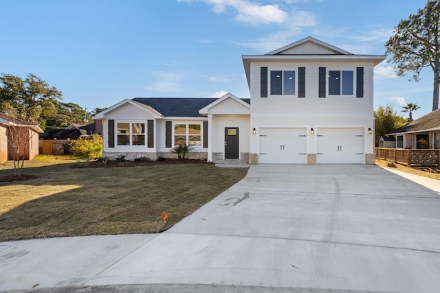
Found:
[[[395,148],[440,149],[440,109],[388,133],[396,139]]]

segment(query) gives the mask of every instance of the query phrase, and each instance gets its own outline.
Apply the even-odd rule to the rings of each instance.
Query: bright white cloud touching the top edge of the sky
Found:
[[[260,5],[248,0],[177,0],[179,2],[202,1],[213,5],[212,11],[222,13],[227,8],[236,10],[235,19],[253,25],[267,23],[283,23],[287,19],[287,12],[278,5]]]

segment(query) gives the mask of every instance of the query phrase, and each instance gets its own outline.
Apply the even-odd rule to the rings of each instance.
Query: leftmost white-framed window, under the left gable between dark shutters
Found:
[[[116,137],[118,145],[145,145],[145,123],[118,122]]]

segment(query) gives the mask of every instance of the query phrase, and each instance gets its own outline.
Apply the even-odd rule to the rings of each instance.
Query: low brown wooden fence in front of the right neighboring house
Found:
[[[401,150],[397,148],[375,148],[376,158],[396,163],[417,166],[438,166],[440,150]]]

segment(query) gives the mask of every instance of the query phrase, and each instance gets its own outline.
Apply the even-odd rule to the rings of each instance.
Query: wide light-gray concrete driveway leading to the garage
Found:
[[[373,165],[252,165],[160,235],[0,242],[0,290],[439,292],[439,199]]]

